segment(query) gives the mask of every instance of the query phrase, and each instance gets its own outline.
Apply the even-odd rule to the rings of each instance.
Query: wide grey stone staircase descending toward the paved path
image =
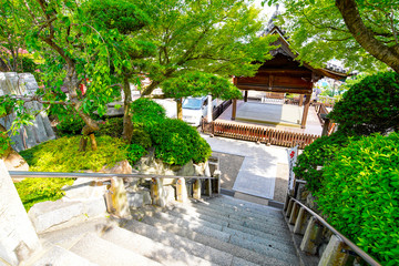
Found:
[[[277,208],[218,196],[132,215],[44,232],[27,265],[299,265]]]

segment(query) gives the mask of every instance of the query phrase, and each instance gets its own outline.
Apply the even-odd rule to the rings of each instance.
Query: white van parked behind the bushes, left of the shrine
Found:
[[[217,100],[213,99],[212,110],[217,105]],[[198,126],[203,117],[207,115],[207,96],[186,98],[183,101],[183,121],[193,126]]]

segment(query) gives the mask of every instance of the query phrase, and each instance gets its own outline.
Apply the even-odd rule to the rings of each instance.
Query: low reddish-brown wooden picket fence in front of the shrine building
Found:
[[[207,123],[205,120],[203,121],[202,130],[204,133],[213,134],[215,136],[225,136],[287,147],[298,145],[299,149],[305,149],[305,146],[309,145],[319,137],[318,135],[278,131],[256,125],[218,121]]]

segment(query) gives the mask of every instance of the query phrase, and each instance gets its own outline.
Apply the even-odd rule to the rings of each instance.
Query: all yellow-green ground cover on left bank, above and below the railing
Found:
[[[100,171],[104,165],[112,167],[127,157],[123,140],[108,135],[96,137],[98,151],[79,152],[80,136],[49,141],[20,154],[33,172],[80,172]],[[72,185],[73,178],[27,178],[16,183],[27,212],[39,202],[57,201],[63,196],[64,185]]]

